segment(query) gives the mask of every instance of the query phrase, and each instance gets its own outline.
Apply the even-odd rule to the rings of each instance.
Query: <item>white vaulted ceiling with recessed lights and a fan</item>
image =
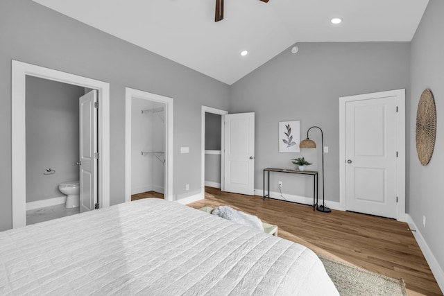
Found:
[[[33,1],[228,85],[297,42],[409,42],[428,3],[225,0],[215,22],[215,0]]]

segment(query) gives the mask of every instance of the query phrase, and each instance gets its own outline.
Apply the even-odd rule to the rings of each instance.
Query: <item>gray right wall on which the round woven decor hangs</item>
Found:
[[[411,103],[407,113],[407,209],[441,269],[444,269],[444,216],[441,207],[444,204],[443,11],[444,1],[430,0],[411,42]],[[432,159],[427,166],[422,166],[416,154],[416,110],[426,88],[434,94],[438,120]],[[426,217],[426,227],[422,225],[422,216]]]

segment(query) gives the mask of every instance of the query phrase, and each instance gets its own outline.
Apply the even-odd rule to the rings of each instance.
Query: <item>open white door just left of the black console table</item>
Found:
[[[224,191],[255,194],[255,114],[226,114]]]

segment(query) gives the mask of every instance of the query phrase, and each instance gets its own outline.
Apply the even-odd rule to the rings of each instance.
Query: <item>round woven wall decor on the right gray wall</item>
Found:
[[[416,151],[420,163],[425,166],[432,158],[436,138],[436,106],[432,92],[425,89],[421,94],[416,112]]]

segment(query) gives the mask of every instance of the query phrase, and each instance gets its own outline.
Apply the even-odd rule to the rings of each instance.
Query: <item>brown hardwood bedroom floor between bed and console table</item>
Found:
[[[404,279],[409,295],[443,295],[407,223],[348,211],[322,213],[312,207],[205,187],[205,200],[188,204],[229,205],[278,225],[279,236],[317,254]]]

